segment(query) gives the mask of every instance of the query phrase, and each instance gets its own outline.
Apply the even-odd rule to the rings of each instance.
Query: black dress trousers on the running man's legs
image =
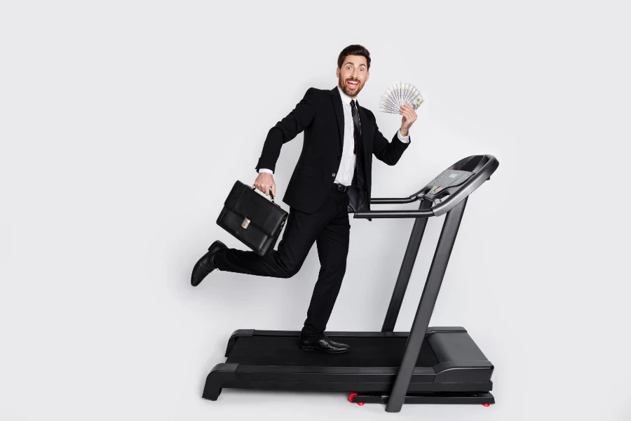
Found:
[[[290,278],[297,274],[315,242],[320,258],[320,273],[313,288],[301,335],[318,340],[333,311],[346,272],[351,224],[348,220],[348,194],[331,189],[314,213],[290,208],[278,250],[261,257],[247,250],[228,248],[215,255],[220,271],[258,276]]]

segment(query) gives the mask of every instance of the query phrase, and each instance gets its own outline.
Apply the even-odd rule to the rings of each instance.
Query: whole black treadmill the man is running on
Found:
[[[226,362],[212,368],[203,398],[217,400],[222,388],[351,392],[349,401],[386,403],[495,403],[493,365],[464,328],[428,327],[468,196],[489,180],[499,163],[492,155],[461,159],[412,196],[371,199],[371,204],[420,201],[418,210],[369,210],[354,218],[415,218],[412,234],[381,332],[326,332],[351,350],[344,354],[305,352],[299,331],[236,330]],[[445,222],[423,294],[409,332],[394,332],[428,218]]]

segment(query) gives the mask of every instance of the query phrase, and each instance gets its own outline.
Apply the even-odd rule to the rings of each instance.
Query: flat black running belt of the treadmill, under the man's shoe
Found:
[[[407,338],[334,337],[351,346],[344,354],[301,351],[297,336],[250,336],[238,338],[226,363],[256,366],[398,367]],[[417,367],[438,363],[427,339],[423,341]]]

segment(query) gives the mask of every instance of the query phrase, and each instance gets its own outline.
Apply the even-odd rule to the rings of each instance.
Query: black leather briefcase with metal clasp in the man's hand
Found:
[[[287,212],[269,194],[271,201],[237,180],[217,218],[219,227],[261,256],[273,250],[287,221]]]

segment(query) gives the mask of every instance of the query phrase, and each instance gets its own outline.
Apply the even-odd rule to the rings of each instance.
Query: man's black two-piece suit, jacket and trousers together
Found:
[[[361,145],[357,171],[347,193],[332,189],[340,168],[344,142],[344,112],[337,87],[331,91],[309,88],[290,114],[270,129],[257,164],[274,171],[280,148],[304,131],[304,142],[283,201],[290,206],[287,226],[278,250],[260,257],[234,248],[215,255],[217,269],[259,276],[289,278],[296,274],[315,242],[320,273],[315,283],[302,335],[317,340],[326,328],[341,281],[346,272],[349,231],[348,212],[369,210],[372,155],[394,165],[409,146],[395,133],[388,142],[379,132],[374,114],[359,107]],[[346,140],[353,142],[353,139]],[[360,161],[360,159],[362,161]],[[361,188],[361,182],[364,186]]]

